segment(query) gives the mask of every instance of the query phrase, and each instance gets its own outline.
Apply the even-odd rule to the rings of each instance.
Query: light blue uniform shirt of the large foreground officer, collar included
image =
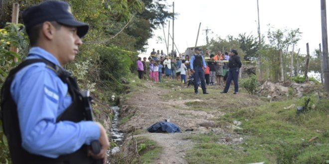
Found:
[[[26,59],[36,58],[60,66],[49,52],[32,47]],[[68,85],[44,63],[31,64],[16,73],[10,93],[17,105],[21,144],[28,152],[57,158],[99,139],[99,127],[92,121],[56,123],[57,116],[72,103],[72,99],[67,94]]]

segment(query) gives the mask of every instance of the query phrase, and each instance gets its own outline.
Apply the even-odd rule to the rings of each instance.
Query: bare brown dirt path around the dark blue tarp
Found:
[[[182,130],[182,133],[174,134],[145,132],[138,135],[156,141],[163,148],[161,156],[159,159],[156,159],[154,163],[186,164],[187,162],[184,160],[185,153],[186,150],[192,148],[193,143],[184,138],[190,133],[204,133],[209,130],[217,131],[224,136],[229,136],[229,139],[223,139],[225,142],[224,144],[227,144],[227,141],[236,142],[237,140],[234,140],[234,138],[239,139],[239,135],[229,133],[214,126],[213,118],[224,114],[223,111],[219,110],[223,107],[220,104],[211,107],[211,109],[218,108],[218,110],[191,110],[191,107],[186,105],[186,103],[206,103],[202,94],[192,94],[193,91],[191,88],[184,88],[185,90],[191,90],[190,92],[187,90],[188,93],[186,94],[190,94],[188,98],[180,98],[177,97],[179,95],[170,95],[170,93],[176,89],[180,92],[178,87],[174,86],[174,88],[168,89],[159,87],[159,85],[152,82],[146,82],[144,85],[150,89],[141,87],[138,92],[133,93],[129,101],[125,101],[122,107],[123,116],[134,114],[128,122],[121,126],[122,130],[128,133],[138,129],[146,130],[152,124],[167,118],[170,118],[170,122],[175,123]],[[164,95],[166,95],[166,98],[164,98]],[[193,129],[193,131],[185,132],[186,129]]]

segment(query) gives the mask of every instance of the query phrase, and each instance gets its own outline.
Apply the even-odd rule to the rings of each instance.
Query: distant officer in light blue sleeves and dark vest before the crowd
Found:
[[[198,82],[200,81],[203,94],[208,94],[204,82],[204,71],[207,66],[203,56],[200,55],[199,47],[195,47],[194,52],[195,55],[191,57],[190,61],[191,72],[194,74],[194,93],[198,94]]]

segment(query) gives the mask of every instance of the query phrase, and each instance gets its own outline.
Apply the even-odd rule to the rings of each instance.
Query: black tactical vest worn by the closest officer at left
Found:
[[[70,73],[58,67],[57,65],[45,59],[29,59],[22,62],[16,68],[9,72],[9,75],[1,88],[1,120],[4,134],[7,137],[10,157],[13,164],[94,164],[94,160],[87,157],[87,145],[83,145],[79,150],[72,154],[59,156],[57,159],[51,159],[40,155],[28,153],[21,146],[21,134],[19,129],[19,120],[17,106],[10,94],[10,84],[15,74],[27,65],[43,62],[47,68],[53,70],[62,82],[67,83],[68,92],[72,97],[72,104],[57,117],[56,122],[67,120],[80,122],[85,120],[83,112],[82,96],[79,87]]]

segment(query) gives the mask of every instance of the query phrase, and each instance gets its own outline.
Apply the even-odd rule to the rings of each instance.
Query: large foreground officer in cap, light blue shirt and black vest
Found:
[[[1,114],[13,164],[94,164],[109,141],[104,127],[84,121],[75,80],[62,66],[73,61],[88,24],[64,1],[45,1],[23,13],[31,49],[1,90]],[[88,145],[99,141],[94,154]],[[99,160],[98,160],[99,162]]]

